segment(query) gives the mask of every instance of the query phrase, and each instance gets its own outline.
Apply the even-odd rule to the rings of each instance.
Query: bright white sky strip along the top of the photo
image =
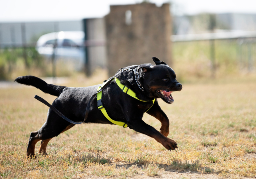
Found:
[[[110,5],[141,3],[142,0],[1,0],[0,22],[80,20],[103,17]],[[150,0],[160,6],[172,2],[176,15],[215,13],[255,13],[256,0]]]

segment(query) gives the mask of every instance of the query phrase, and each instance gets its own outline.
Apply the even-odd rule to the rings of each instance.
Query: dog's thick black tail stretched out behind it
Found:
[[[66,86],[57,86],[52,84],[47,84],[44,80],[37,78],[35,76],[19,76],[14,81],[17,81],[20,84],[34,86],[44,93],[51,94],[53,96],[60,96],[62,90],[66,88]]]

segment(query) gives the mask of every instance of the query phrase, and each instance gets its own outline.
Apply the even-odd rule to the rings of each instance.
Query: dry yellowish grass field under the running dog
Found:
[[[90,86],[105,78],[77,78],[64,85]],[[86,124],[53,138],[48,156],[26,159],[30,132],[43,125],[48,110],[35,94],[50,103],[55,99],[33,87],[0,88],[3,178],[256,177],[255,76],[184,83],[173,93],[174,104],[159,100],[177,151],[129,128]],[[148,114],[143,120],[160,129]]]

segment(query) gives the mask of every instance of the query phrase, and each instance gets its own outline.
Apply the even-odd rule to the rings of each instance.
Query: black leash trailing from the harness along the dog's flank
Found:
[[[66,116],[64,116],[63,114],[60,113],[60,111],[58,109],[56,109],[55,107],[53,107],[52,105],[50,105],[46,100],[44,100],[43,98],[39,97],[38,95],[35,95],[35,99],[39,100],[40,102],[44,103],[46,106],[50,107],[55,113],[57,113],[60,117],[62,117],[63,119],[67,120],[68,122],[72,123],[72,124],[82,124],[85,120],[87,120],[88,118],[88,114],[89,114],[89,110],[90,110],[90,103],[91,100],[93,99],[93,97],[96,95],[97,93],[95,93],[94,95],[91,96],[87,107],[86,107],[86,111],[85,111],[85,116],[84,116],[84,120],[82,122],[74,122],[73,120],[68,119]]]

